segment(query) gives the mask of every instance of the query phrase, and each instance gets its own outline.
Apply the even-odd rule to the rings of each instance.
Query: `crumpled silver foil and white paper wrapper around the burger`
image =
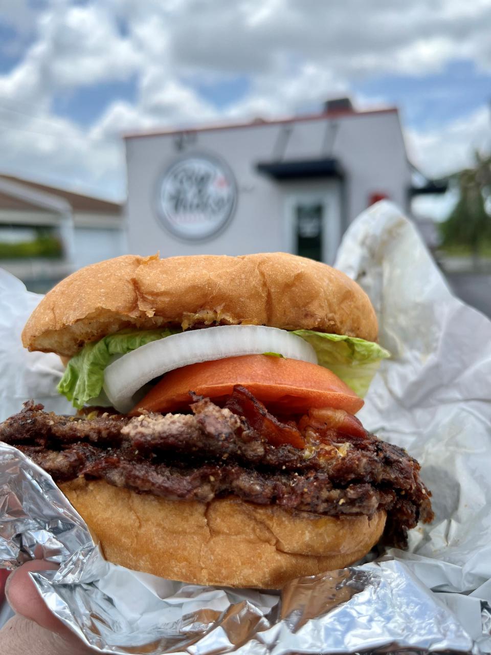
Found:
[[[388,202],[350,226],[336,266],[369,293],[393,354],[360,418],[420,460],[435,521],[412,531],[407,552],[300,578],[281,595],[185,585],[107,563],[52,479],[0,443],[0,563],[60,562],[33,580],[88,645],[132,655],[491,652],[491,322],[451,295]],[[37,301],[0,271],[0,419],[29,397],[63,411],[56,359],[18,344]]]

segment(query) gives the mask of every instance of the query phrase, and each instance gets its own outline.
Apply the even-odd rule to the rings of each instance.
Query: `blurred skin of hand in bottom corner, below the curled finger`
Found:
[[[0,655],[93,655],[80,641],[66,641],[24,616],[14,616],[0,630]]]

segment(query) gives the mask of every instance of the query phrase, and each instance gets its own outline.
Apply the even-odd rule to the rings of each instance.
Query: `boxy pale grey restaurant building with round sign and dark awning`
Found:
[[[397,109],[128,134],[128,242],[162,257],[282,250],[332,263],[367,206],[409,210]]]

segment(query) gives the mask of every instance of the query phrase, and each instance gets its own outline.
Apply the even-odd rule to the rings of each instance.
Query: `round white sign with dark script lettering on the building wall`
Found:
[[[232,172],[204,155],[179,159],[158,185],[160,221],[175,236],[206,239],[225,227],[237,198]]]

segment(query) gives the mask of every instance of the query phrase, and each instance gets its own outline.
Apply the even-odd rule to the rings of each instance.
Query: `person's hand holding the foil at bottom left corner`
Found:
[[[94,655],[46,607],[29,571],[57,569],[57,565],[33,560],[12,572],[5,594],[16,612],[0,630],[0,655]]]

